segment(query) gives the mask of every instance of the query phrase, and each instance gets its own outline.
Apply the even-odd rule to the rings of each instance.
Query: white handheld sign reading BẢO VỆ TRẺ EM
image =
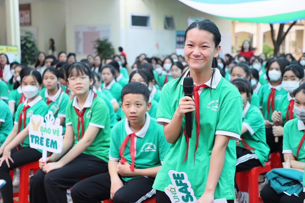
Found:
[[[42,116],[32,115],[29,139],[31,148],[42,150],[44,161],[48,151],[59,154],[63,148],[63,126],[60,125],[60,119],[55,119],[52,111],[45,115],[45,123]]]

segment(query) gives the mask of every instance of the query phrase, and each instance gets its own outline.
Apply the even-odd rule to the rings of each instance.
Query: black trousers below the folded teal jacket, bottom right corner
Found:
[[[285,193],[277,194],[269,184],[265,185],[263,190],[260,192],[260,197],[266,203],[303,203],[305,199],[305,193],[300,192],[299,197],[295,195],[287,195]]]

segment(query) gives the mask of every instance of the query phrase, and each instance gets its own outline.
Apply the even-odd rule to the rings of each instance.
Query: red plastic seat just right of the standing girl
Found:
[[[265,166],[257,166],[253,169],[242,171],[235,174],[235,180],[240,191],[249,191],[249,202],[263,202],[258,197],[258,175],[271,171],[271,164],[265,162]]]

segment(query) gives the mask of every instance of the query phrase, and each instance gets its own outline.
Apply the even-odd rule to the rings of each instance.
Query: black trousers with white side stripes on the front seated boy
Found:
[[[122,180],[122,178],[120,177]],[[155,197],[156,190],[152,188],[155,181],[150,177],[136,177],[128,182],[122,180],[124,186],[114,194],[114,203],[143,202]],[[111,180],[109,172],[92,176],[76,183],[71,190],[74,203],[100,203],[110,198]]]

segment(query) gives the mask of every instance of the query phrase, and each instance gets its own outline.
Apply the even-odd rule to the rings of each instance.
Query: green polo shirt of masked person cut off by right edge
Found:
[[[304,122],[295,118],[287,121],[284,125],[283,135],[283,154],[293,154],[296,157],[296,151],[300,141],[305,133]],[[301,144],[300,151],[298,154],[299,162],[305,162],[305,145],[304,141]]]

